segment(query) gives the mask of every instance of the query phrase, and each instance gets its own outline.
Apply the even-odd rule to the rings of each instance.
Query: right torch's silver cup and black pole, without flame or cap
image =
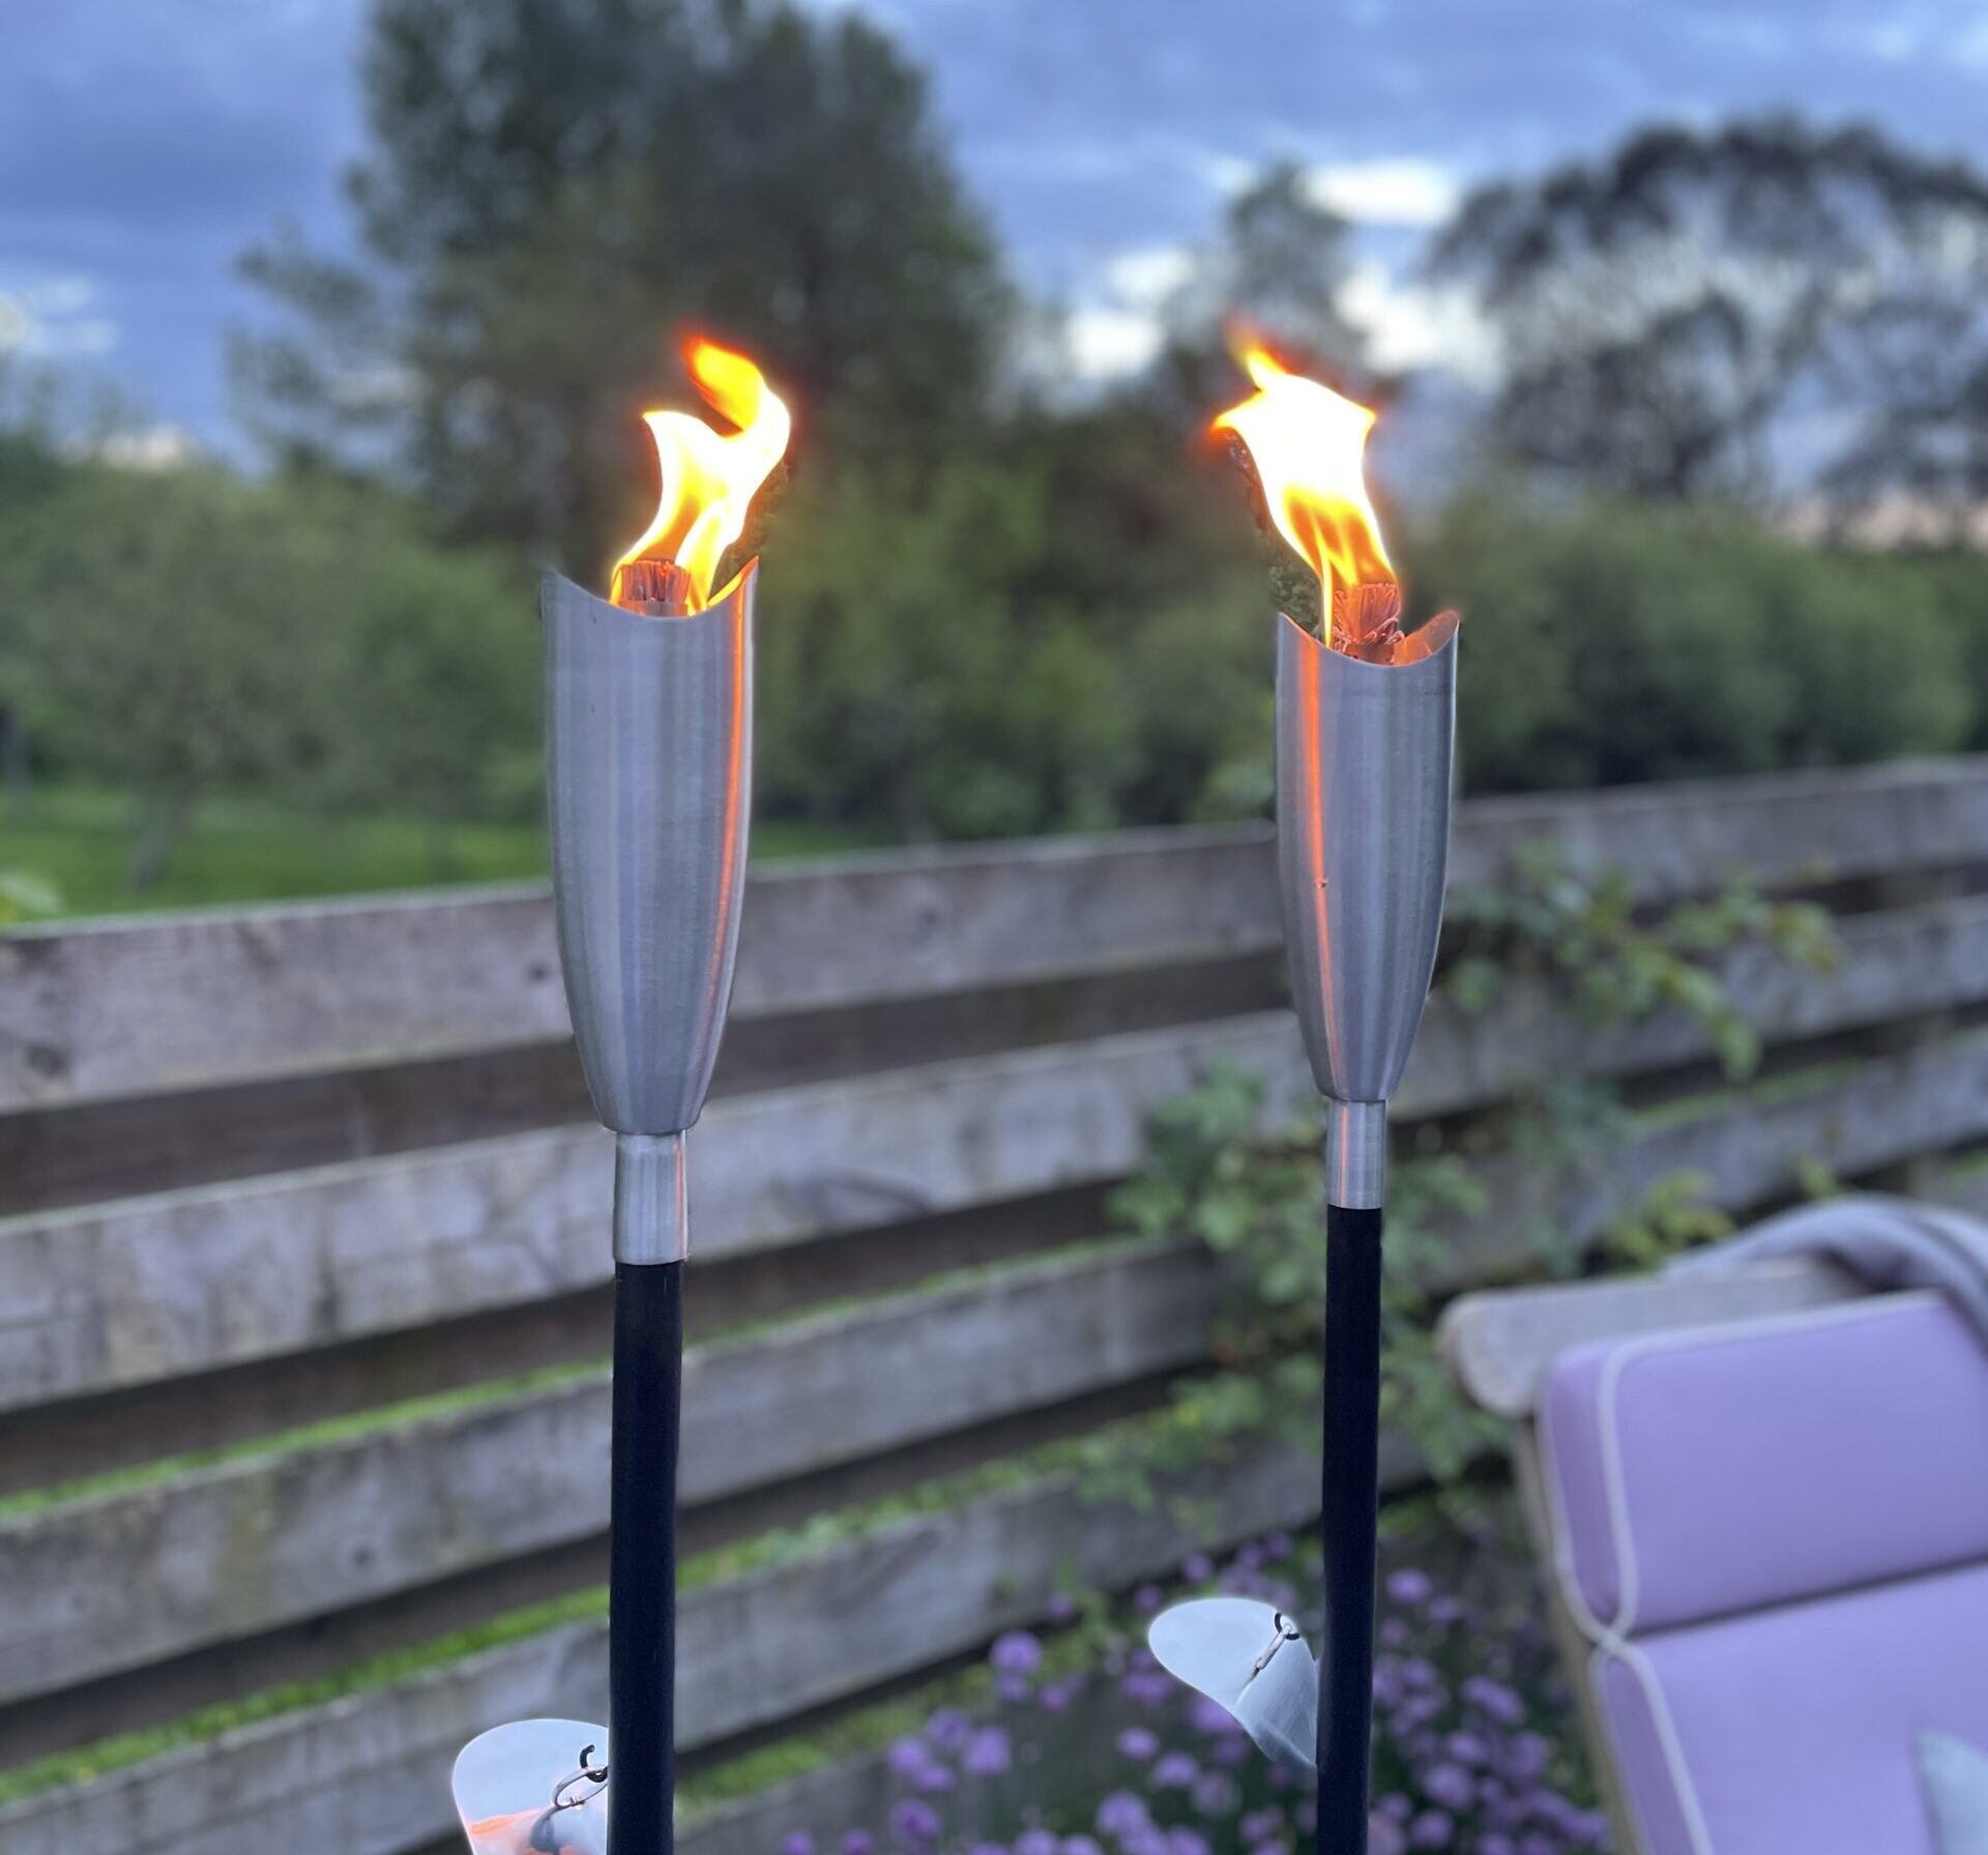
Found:
[[[1290,618],[1278,624],[1284,944],[1326,1097],[1322,1855],[1366,1849],[1388,1099],[1408,1068],[1443,925],[1455,704],[1453,632],[1419,662],[1372,664]]]

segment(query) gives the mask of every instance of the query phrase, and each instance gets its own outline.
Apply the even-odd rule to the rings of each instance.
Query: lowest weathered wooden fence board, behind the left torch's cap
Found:
[[[1384,1475],[1411,1463],[1396,1447]],[[1189,1489],[1217,1495],[1233,1543],[1316,1507],[1316,1467],[1264,1449]],[[903,1521],[827,1553],[690,1591],[678,1614],[680,1746],[718,1744],[912,1674],[1038,1620],[1068,1575],[1125,1589],[1191,1543],[1151,1511],[1101,1505],[1072,1477]],[[602,1718],[606,1630],[571,1624],[412,1680],[227,1732],[125,1771],[0,1807],[0,1847],[62,1855],[400,1855],[449,1833],[449,1768],[475,1734],[535,1716]]]

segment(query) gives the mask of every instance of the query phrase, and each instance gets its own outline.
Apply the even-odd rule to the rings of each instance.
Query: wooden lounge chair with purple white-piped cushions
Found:
[[[1920,1734],[1988,1748],[1988,1350],[1821,1261],[1471,1294],[1618,1843],[1932,1855]]]

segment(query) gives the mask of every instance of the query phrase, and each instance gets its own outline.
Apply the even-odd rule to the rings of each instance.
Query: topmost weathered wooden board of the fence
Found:
[[[1988,761],[1483,799],[1451,881],[1565,843],[1656,899],[1988,855]],[[755,871],[742,1018],[1274,948],[1264,827],[1048,839]],[[0,936],[0,1113],[567,1034],[537,891],[312,903]]]

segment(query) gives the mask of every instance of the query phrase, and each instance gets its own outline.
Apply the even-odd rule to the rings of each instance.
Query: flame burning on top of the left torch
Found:
[[[724,551],[746,533],[746,513],[787,453],[793,420],[744,356],[702,336],[684,344],[684,366],[704,402],[736,431],[714,431],[688,412],[644,412],[662,465],[662,493],[648,531],[614,563],[608,598],[620,598],[622,569],[674,561],[690,577],[686,610],[712,602]]]

